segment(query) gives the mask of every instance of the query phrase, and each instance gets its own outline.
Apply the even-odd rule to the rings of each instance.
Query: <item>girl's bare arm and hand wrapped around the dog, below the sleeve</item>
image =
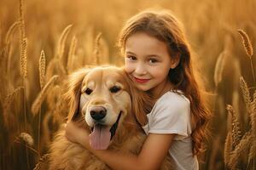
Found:
[[[113,169],[159,169],[171,146],[175,134],[149,133],[138,156],[112,150],[93,150],[89,144],[88,132],[68,122],[66,127],[67,139],[82,144],[95,156]]]

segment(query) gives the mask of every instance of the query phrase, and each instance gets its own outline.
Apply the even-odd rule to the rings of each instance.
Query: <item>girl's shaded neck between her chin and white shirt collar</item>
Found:
[[[172,82],[166,80],[165,82],[160,83],[156,88],[149,90],[154,102],[159,99],[163,94],[170,91],[173,88]]]

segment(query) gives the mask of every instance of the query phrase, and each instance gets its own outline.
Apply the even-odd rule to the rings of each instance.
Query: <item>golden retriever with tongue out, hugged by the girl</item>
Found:
[[[147,121],[150,98],[132,86],[123,69],[114,66],[85,68],[69,77],[71,110],[68,120],[90,132],[96,150],[138,154],[146,138],[140,123]],[[162,169],[170,169],[166,159]],[[66,139],[65,130],[50,146],[49,169],[110,169],[79,144]]]

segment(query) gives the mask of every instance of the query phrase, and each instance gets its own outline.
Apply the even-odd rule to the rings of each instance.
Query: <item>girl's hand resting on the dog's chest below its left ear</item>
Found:
[[[84,147],[89,147],[89,133],[81,127],[78,127],[74,122],[67,122],[66,137],[74,143],[82,144]]]

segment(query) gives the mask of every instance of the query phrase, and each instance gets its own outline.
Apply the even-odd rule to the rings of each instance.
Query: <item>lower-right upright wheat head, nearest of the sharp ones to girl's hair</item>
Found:
[[[232,145],[233,145],[233,147],[236,147],[236,145],[239,143],[239,140],[241,139],[241,130],[240,130],[240,127],[239,127],[239,122],[237,120],[236,112],[234,111],[233,106],[232,105],[227,105],[226,109],[231,115]]]

